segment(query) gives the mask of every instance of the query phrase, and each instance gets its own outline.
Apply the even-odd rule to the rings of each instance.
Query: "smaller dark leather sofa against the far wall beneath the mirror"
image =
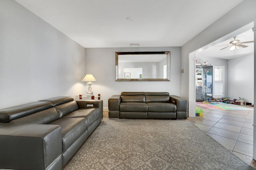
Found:
[[[188,100],[168,92],[122,92],[108,99],[108,117],[125,119],[186,119]]]

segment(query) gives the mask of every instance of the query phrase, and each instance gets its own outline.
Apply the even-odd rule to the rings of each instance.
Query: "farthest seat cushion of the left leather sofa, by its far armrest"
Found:
[[[100,116],[100,109],[90,108],[90,109],[78,109],[64,116],[63,118],[70,117],[85,117],[88,119],[88,126],[90,126],[98,117]]]

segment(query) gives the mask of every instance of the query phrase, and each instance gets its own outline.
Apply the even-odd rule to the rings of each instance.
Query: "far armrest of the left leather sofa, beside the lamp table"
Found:
[[[103,113],[103,100],[76,100],[79,109],[100,108]]]

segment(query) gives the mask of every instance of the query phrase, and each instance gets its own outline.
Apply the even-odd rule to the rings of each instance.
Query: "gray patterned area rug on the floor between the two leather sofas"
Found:
[[[254,170],[188,120],[108,119],[64,170]]]

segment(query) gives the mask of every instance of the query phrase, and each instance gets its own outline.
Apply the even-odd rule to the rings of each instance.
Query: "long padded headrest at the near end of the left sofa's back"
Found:
[[[0,122],[8,122],[52,107],[51,102],[32,102],[0,110]]]

